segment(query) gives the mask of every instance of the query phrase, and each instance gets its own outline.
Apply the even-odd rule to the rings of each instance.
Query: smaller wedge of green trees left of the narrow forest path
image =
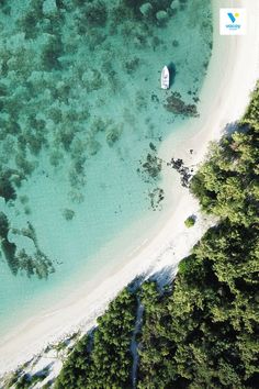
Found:
[[[135,321],[136,297],[125,289],[98,319],[92,337],[86,335],[77,343],[55,388],[130,387]]]

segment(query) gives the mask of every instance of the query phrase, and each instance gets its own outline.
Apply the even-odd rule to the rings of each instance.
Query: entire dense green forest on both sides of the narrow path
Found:
[[[259,88],[238,131],[214,144],[191,182],[221,218],[179,265],[173,285],[126,290],[82,337],[56,388],[126,388],[137,312],[137,388],[256,388],[259,381]],[[135,296],[134,296],[135,294]],[[138,305],[139,307],[139,305]]]

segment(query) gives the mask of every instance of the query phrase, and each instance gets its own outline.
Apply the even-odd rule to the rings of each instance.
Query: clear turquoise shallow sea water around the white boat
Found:
[[[203,0],[15,0],[1,2],[0,24],[5,333],[81,271],[92,279],[109,266],[94,254],[135,220],[155,223],[166,210],[157,149],[195,120],[169,112],[166,99],[176,91],[198,102],[212,15]]]

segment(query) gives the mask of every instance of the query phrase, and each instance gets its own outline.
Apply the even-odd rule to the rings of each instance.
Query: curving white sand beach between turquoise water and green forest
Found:
[[[247,9],[248,25],[245,36],[218,35],[221,7]],[[172,144],[170,137],[165,142],[160,149],[165,159],[174,155],[183,158],[185,164],[201,163],[209,142],[218,138],[227,124],[234,123],[244,114],[250,92],[259,78],[259,1],[214,0],[214,9],[213,55],[201,93],[201,118],[192,131],[193,136],[184,144]],[[190,155],[190,148],[194,149],[193,155]],[[169,178],[165,177],[165,180],[169,185]],[[109,276],[102,275],[95,288],[80,286],[54,310],[31,319],[1,340],[0,374],[15,368],[65,334],[79,327],[83,331],[90,329],[109,301],[137,275],[155,273],[165,266],[171,266],[172,273],[176,273],[179,260],[189,253],[211,223],[199,216],[195,226],[188,230],[184,220],[190,214],[199,214],[199,204],[185,189],[180,188],[180,184],[178,196],[178,204],[168,215],[167,223],[151,241],[145,238],[123,267]]]

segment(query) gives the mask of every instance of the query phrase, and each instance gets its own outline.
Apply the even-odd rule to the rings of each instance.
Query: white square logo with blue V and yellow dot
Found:
[[[221,35],[245,35],[246,10],[243,8],[221,8],[219,32]]]

